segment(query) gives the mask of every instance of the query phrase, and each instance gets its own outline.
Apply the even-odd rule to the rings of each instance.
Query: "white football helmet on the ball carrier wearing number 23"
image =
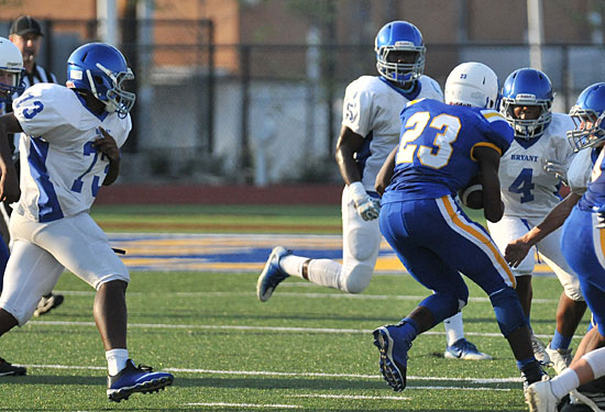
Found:
[[[446,81],[446,103],[497,110],[498,77],[483,63],[458,65]]]

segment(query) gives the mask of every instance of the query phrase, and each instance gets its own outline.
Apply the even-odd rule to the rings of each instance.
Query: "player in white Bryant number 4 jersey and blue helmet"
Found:
[[[571,118],[552,113],[552,86],[540,70],[521,68],[512,73],[503,87],[501,111],[515,129],[515,141],[504,154],[499,166],[502,198],[505,204],[503,219],[488,222],[488,229],[505,253],[509,242],[537,226],[557,205],[560,179],[547,171],[552,164],[566,170],[573,158],[565,133],[573,129]],[[578,276],[561,255],[561,232],[536,244],[540,257],[550,266],[563,286],[557,310],[557,329],[549,347],[532,336],[536,358],[544,364],[552,361],[557,371],[571,361],[569,348],[573,334],[586,310]],[[535,256],[529,254],[517,263],[513,271],[517,278],[517,293],[528,319],[531,309],[531,274]]]

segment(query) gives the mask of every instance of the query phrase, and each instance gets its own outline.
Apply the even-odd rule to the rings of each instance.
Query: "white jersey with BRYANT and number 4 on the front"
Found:
[[[565,133],[573,129],[568,114],[552,113],[544,134],[529,141],[528,147],[515,138],[503,155],[498,171],[505,215],[543,216],[559,203],[559,179],[546,171],[544,165],[556,160],[569,168],[574,154]]]

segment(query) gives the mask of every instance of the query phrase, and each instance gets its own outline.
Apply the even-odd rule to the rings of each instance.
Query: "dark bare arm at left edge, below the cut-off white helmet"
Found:
[[[0,201],[15,202],[21,196],[16,170],[9,147],[9,133],[21,133],[21,124],[13,113],[0,116]]]

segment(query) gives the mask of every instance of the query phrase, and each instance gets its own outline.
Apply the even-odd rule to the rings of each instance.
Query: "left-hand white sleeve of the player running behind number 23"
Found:
[[[372,92],[360,86],[360,80],[355,80],[346,87],[342,105],[342,125],[361,136],[366,136],[372,122],[373,99]]]

